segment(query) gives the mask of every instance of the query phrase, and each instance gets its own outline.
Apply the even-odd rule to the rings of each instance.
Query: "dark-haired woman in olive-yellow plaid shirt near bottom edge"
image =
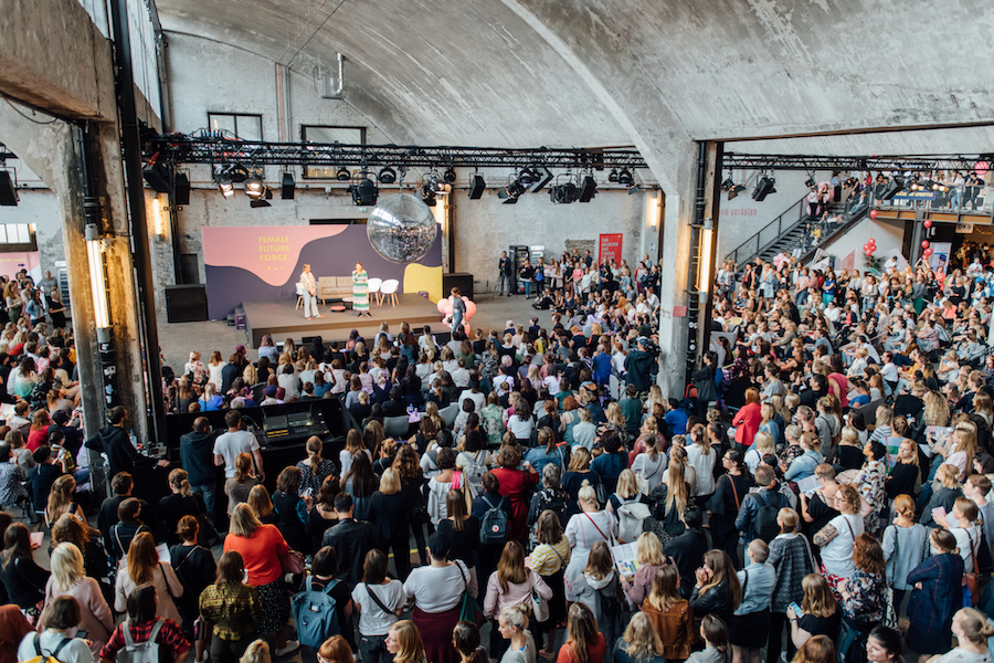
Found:
[[[255,638],[262,603],[258,601],[258,591],[242,583],[244,575],[242,555],[229,550],[218,562],[213,585],[208,585],[200,593],[200,615],[213,624],[213,663],[235,663]]]

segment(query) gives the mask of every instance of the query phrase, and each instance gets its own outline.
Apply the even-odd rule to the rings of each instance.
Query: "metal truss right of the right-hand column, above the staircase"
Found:
[[[742,155],[726,152],[727,170],[973,170],[991,155],[917,155],[891,157],[819,157],[813,155]]]

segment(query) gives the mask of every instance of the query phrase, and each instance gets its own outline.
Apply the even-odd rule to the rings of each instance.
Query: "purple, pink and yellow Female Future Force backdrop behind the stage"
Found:
[[[315,277],[349,277],[362,263],[370,278],[396,280],[398,293],[442,296],[442,234],[419,261],[390,262],[372,248],[366,225],[204,227],[208,315],[223,319],[243,302],[285,299],[293,306],[304,264]]]

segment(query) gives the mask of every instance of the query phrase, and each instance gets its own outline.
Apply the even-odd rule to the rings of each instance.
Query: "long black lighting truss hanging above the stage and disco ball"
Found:
[[[588,170],[647,169],[634,148],[499,148],[419,147],[400,145],[340,145],[263,143],[230,137],[167,135],[145,143],[146,156],[180,164],[241,164],[254,166],[336,166],[382,168],[550,168]]]

